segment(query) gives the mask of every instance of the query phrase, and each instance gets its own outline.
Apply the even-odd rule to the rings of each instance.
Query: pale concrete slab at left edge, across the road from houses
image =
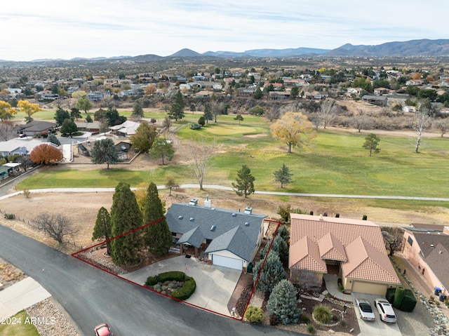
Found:
[[[33,278],[22,281],[0,291],[0,316],[7,318],[19,311],[51,297]]]

